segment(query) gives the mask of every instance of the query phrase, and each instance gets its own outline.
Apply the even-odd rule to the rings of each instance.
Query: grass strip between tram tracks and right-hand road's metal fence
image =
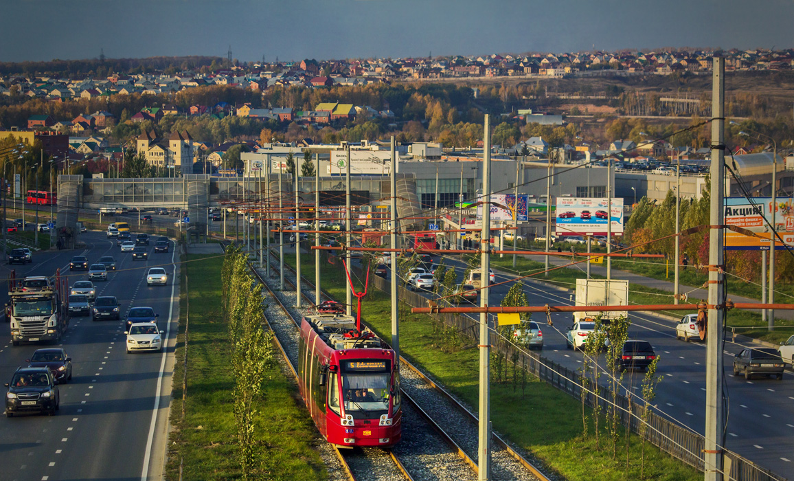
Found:
[[[294,255],[285,256],[285,260],[295,265]],[[314,256],[302,256],[301,265],[302,274],[307,279],[314,279]],[[325,262],[321,266],[323,291],[334,298],[344,299],[344,271]],[[353,282],[357,290],[363,287],[356,280]],[[362,304],[364,321],[384,339],[391,338],[390,302],[389,294],[371,289]],[[439,323],[423,314],[401,317],[401,353],[468,402],[469,406],[477,406],[479,351],[468,348],[473,341],[450,337],[444,330]],[[520,377],[515,388],[512,379],[503,383],[491,382],[491,421],[496,430],[533,452],[553,471],[571,481],[640,479],[640,441],[637,436],[630,437],[630,471],[626,475],[626,452],[622,448],[625,439],[619,441],[618,460],[612,460],[611,451],[603,449],[604,437],[600,451],[595,449],[593,437],[582,438],[581,405],[577,399],[531,376],[527,376],[526,381],[524,391]],[[591,425],[589,432],[593,431]],[[694,481],[702,477],[695,468],[646,444],[647,479]]]

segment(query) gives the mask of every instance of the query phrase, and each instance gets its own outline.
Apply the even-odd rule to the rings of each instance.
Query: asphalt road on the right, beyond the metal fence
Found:
[[[461,267],[457,260],[445,260],[447,265]],[[462,271],[458,268],[458,282]],[[495,271],[496,283],[515,279]],[[584,274],[583,274],[584,277]],[[613,274],[620,279],[619,273]],[[491,287],[488,303],[499,306],[513,283]],[[570,306],[569,291],[560,291],[542,283],[526,283],[530,305]],[[430,295],[430,294],[425,294]],[[479,302],[478,302],[479,305]],[[681,313],[683,316],[684,313]],[[730,317],[730,314],[729,314]],[[658,372],[665,379],[657,387],[653,403],[657,411],[680,425],[703,434],[705,431],[706,346],[701,342],[677,341],[676,322],[669,317],[630,313],[630,339],[649,341],[661,356]],[[572,325],[572,315],[551,314],[553,326],[546,324],[545,315],[533,314],[541,323],[544,348],[542,355],[569,369],[578,369],[584,354],[566,348],[565,333]],[[760,466],[791,477],[794,473],[794,374],[787,370],[782,381],[761,377],[750,381],[734,377],[733,359],[742,348],[749,347],[726,341],[724,348],[725,386],[727,387],[727,433],[725,446]],[[599,364],[605,365],[604,355]],[[623,384],[642,396],[642,371],[626,371]],[[602,382],[603,378],[602,378]],[[625,392],[625,391],[624,391]]]

